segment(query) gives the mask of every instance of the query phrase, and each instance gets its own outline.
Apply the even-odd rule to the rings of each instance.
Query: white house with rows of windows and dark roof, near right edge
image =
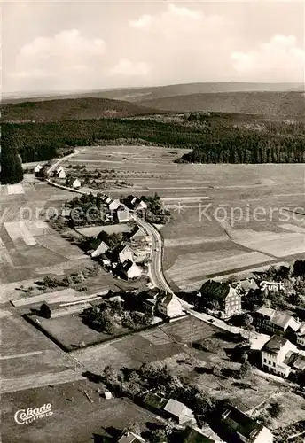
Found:
[[[262,368],[280,377],[288,377],[293,354],[298,354],[297,346],[286,338],[274,335],[262,346]]]

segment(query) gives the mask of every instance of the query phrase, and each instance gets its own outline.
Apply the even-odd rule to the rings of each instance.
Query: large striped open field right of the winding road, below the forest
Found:
[[[95,146],[84,148],[68,163],[97,168],[102,174],[114,170],[111,180],[133,183],[107,190],[113,197],[160,194],[172,213],[161,230],[164,268],[168,279],[184,291],[199,289],[207,276],[224,277],[305,258],[302,165],[174,163],[184,152]],[[186,273],[190,260],[192,269]]]

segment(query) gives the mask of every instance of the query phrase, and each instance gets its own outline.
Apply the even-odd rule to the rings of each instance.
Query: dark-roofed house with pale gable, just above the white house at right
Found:
[[[278,335],[294,336],[299,329],[298,323],[291,315],[276,311],[271,307],[260,307],[254,314],[254,323],[259,330],[265,330]]]

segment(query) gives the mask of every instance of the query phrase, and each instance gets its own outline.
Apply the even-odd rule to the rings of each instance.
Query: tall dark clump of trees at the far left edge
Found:
[[[20,183],[23,170],[13,128],[2,131],[0,183]]]

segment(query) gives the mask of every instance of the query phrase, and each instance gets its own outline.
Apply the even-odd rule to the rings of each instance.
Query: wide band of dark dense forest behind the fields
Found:
[[[217,114],[218,115],[218,114]],[[246,120],[246,119],[245,119]],[[246,120],[247,121],[247,120]],[[259,121],[232,124],[208,117],[204,122],[152,119],[64,120],[3,123],[3,150],[18,148],[24,162],[53,159],[74,146],[141,143],[191,148],[182,162],[304,162],[305,124]]]

